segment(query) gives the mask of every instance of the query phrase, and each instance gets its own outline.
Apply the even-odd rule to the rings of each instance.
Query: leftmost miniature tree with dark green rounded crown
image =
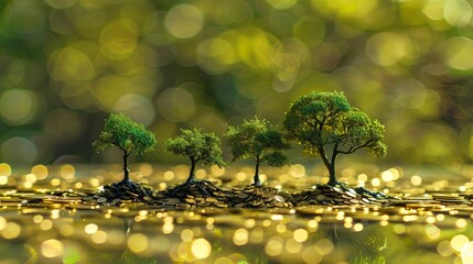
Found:
[[[93,146],[98,152],[116,146],[123,152],[123,179],[119,185],[130,183],[128,157],[132,154],[142,155],[153,150],[157,140],[154,134],[140,123],[133,122],[123,113],[111,113],[105,121],[105,128]]]

